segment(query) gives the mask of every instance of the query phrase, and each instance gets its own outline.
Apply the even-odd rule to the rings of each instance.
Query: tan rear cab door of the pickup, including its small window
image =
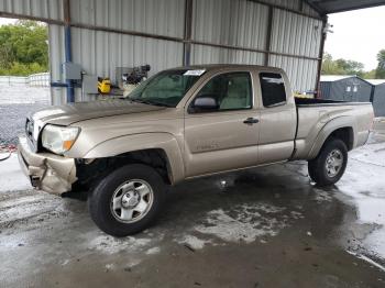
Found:
[[[260,114],[258,164],[290,158],[295,147],[297,111],[287,76],[261,69],[256,77]]]

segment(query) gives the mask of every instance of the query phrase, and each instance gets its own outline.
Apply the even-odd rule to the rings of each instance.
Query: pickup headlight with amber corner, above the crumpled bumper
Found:
[[[53,153],[63,154],[70,149],[78,134],[78,128],[46,125],[42,134],[42,145]]]

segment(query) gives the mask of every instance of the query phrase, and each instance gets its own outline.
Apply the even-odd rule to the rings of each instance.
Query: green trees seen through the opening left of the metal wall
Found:
[[[47,27],[33,21],[0,26],[0,75],[29,75],[48,67]]]

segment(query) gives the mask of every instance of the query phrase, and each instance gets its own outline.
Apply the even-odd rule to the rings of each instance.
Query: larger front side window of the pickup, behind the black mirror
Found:
[[[217,112],[252,107],[250,73],[228,73],[215,76],[198,92],[189,111]]]

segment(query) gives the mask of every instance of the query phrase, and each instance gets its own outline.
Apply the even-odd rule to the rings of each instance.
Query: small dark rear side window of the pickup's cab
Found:
[[[262,102],[264,107],[274,107],[286,102],[285,82],[280,74],[260,74]]]

